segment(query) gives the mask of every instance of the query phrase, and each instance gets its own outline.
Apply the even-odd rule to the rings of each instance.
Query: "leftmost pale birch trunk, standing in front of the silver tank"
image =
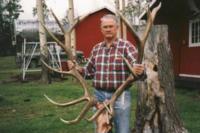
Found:
[[[37,7],[37,15],[39,21],[39,38],[40,38],[40,58],[45,62],[48,62],[48,50],[47,50],[47,40],[46,40],[46,32],[41,23],[45,23],[44,21],[44,12],[42,7],[42,0],[36,1]],[[48,70],[44,64],[42,64],[42,72],[41,72],[41,82],[49,83],[50,77],[48,74]]]

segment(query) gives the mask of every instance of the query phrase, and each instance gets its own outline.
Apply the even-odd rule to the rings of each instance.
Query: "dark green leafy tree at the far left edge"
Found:
[[[14,21],[21,10],[20,0],[0,0],[0,45],[1,55],[12,54],[14,37]]]

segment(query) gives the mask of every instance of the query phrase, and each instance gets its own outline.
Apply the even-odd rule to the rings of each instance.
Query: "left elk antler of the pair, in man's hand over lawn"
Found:
[[[49,35],[57,42],[57,44],[62,47],[65,51],[65,53],[68,55],[68,59],[71,61],[74,61],[75,57],[72,54],[71,51],[71,42],[70,42],[70,34],[72,29],[78,24],[79,21],[76,21],[76,23],[74,23],[68,31],[64,30],[64,28],[62,28],[62,25],[60,24],[60,22],[58,21],[56,15],[52,12],[53,17],[55,18],[56,22],[58,23],[59,27],[61,28],[61,31],[64,33],[64,38],[65,38],[65,43],[63,44],[61,41],[59,41],[59,39],[57,39],[48,29],[47,27],[43,25],[43,27],[45,28],[45,30],[49,33]],[[84,18],[82,18],[84,19]],[[66,103],[58,103],[55,102],[54,100],[52,100],[51,98],[49,98],[46,94],[44,95],[48,101],[50,101],[51,103],[57,105],[57,106],[62,106],[62,107],[66,107],[66,106],[70,106],[70,105],[74,105],[74,104],[78,104],[80,102],[83,101],[87,101],[87,105],[83,108],[83,110],[81,111],[81,113],[74,119],[71,121],[66,121],[64,119],[61,118],[61,120],[65,123],[77,123],[79,122],[83,116],[85,116],[85,114],[88,112],[88,110],[90,109],[90,107],[94,106],[96,104],[96,100],[94,97],[91,96],[91,94],[89,93],[89,89],[87,86],[87,83],[85,82],[85,80],[83,79],[83,77],[80,75],[80,73],[74,68],[72,68],[70,71],[60,71],[57,69],[52,68],[51,66],[49,66],[47,63],[45,63],[42,60],[42,63],[50,70],[55,71],[57,73],[61,73],[61,74],[66,74],[66,75],[72,75],[73,77],[75,77],[81,84],[82,88],[84,89],[84,95],[81,98],[78,98],[76,100],[73,100],[71,102],[66,102]]]

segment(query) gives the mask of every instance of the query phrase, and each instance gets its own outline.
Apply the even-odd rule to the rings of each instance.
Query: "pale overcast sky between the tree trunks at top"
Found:
[[[67,0],[46,0],[46,3],[59,18],[65,16],[68,8]],[[21,13],[19,19],[33,19],[32,10],[36,5],[36,0],[21,0],[20,4],[24,13]],[[105,5],[114,6],[113,0],[74,0],[75,14],[79,16]]]

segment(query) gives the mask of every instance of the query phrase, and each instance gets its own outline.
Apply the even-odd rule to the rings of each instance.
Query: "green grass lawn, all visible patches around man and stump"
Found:
[[[84,103],[70,108],[53,106],[44,94],[57,101],[69,101],[83,94],[71,78],[44,85],[38,80],[20,82],[20,70],[13,57],[0,57],[0,133],[93,133],[93,123],[82,120],[66,125],[59,118],[75,118]],[[90,83],[90,81],[88,81]],[[91,89],[92,91],[92,89]],[[200,90],[178,88],[177,106],[185,127],[190,133],[200,131]],[[132,88],[132,123],[136,107],[136,88]],[[91,115],[92,110],[88,116]],[[133,124],[132,124],[133,125]]]

